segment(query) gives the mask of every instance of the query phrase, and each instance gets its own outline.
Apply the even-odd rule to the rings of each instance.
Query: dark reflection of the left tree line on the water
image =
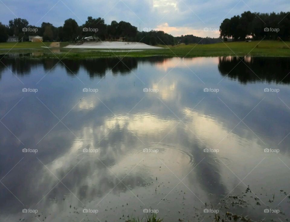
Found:
[[[18,56],[16,56],[18,55]],[[130,74],[134,69],[137,69],[137,63],[150,62],[158,63],[163,62],[165,58],[150,57],[150,58],[128,58],[125,57],[122,60],[118,58],[98,58],[98,59],[87,59],[87,60],[68,60],[62,59],[30,59],[30,54],[24,54],[20,58],[19,54],[8,55],[2,59],[0,64],[1,71],[7,68],[18,75],[24,75],[31,73],[31,70],[37,66],[43,66],[45,71],[50,71],[56,67],[56,64],[63,66],[69,75],[78,75],[80,68],[85,69],[91,78],[103,77],[109,71],[112,71],[113,75],[120,73],[121,75]],[[26,57],[24,57],[26,56]],[[11,59],[15,57],[14,59]],[[61,57],[61,56],[60,56]]]

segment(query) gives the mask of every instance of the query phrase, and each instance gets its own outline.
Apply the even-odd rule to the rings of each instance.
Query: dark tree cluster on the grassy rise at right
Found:
[[[268,39],[289,40],[290,14],[280,13],[253,13],[245,11],[241,15],[226,18],[220,26],[222,38],[232,38],[234,41]]]

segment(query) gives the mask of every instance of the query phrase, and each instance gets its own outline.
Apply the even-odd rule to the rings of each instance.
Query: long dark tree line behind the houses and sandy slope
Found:
[[[112,21],[105,24],[103,18],[92,18],[85,21],[85,24],[78,23],[69,18],[64,21],[63,26],[55,27],[49,22],[43,22],[40,27],[30,25],[26,19],[15,18],[10,20],[8,25],[0,22],[0,42],[6,42],[8,36],[17,36],[23,41],[28,41],[29,36],[42,36],[43,41],[69,41],[79,42],[85,37],[92,36],[97,40],[118,40],[137,41],[149,45],[176,44],[176,38],[163,31],[138,31],[137,27],[125,21]]]

